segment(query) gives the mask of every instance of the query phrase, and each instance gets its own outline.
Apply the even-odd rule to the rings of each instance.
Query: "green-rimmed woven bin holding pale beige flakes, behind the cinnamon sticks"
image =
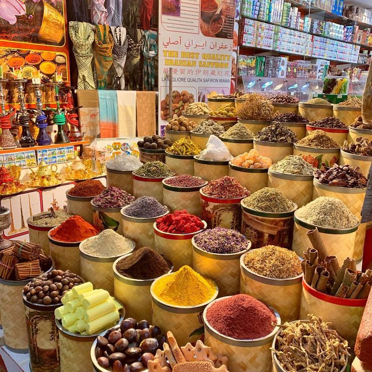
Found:
[[[355,258],[354,244],[356,237],[356,230],[358,229],[359,223],[350,228],[328,228],[315,226],[296,217],[295,212],[295,227],[293,230],[293,250],[298,256],[302,257],[303,253],[309,247],[309,238],[307,237],[307,231],[313,230],[315,227],[318,228],[320,237],[327,247],[327,253],[329,256],[337,256],[340,266],[345,257]]]

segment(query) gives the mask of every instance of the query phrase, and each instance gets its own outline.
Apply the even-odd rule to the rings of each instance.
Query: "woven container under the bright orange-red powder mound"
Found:
[[[56,227],[48,231],[50,255],[59,270],[70,270],[80,275],[80,251],[81,242],[61,242],[51,237],[51,232]]]

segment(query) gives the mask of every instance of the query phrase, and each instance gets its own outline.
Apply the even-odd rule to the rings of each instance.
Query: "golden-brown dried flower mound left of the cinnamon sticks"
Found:
[[[275,279],[295,277],[302,272],[301,261],[295,252],[272,245],[248,252],[244,264],[256,274]]]

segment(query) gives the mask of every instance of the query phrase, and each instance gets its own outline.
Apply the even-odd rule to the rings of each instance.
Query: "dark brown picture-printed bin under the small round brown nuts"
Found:
[[[32,372],[60,372],[58,329],[54,310],[62,304],[40,305],[26,301],[22,294],[26,314],[30,369]]]

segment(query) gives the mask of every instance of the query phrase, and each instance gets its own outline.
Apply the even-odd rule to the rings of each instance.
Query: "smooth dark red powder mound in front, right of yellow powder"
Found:
[[[207,310],[211,327],[224,336],[252,340],[270,334],[276,317],[261,301],[248,295],[236,295],[216,301]]]

